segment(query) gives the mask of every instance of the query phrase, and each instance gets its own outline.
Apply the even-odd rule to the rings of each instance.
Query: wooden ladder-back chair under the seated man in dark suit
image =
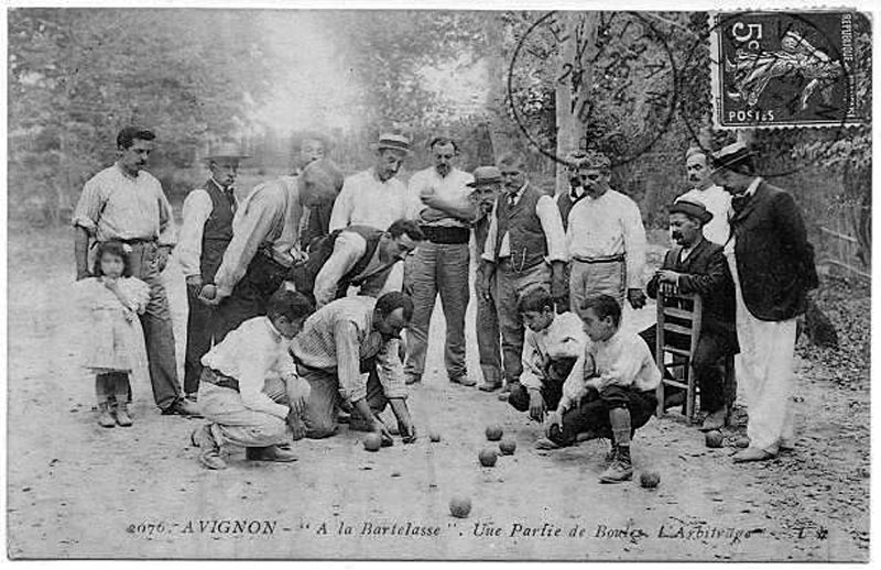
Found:
[[[692,355],[697,349],[700,338],[700,315],[703,303],[700,295],[657,295],[657,329],[655,360],[661,369],[661,383],[657,385],[657,417],[664,415],[664,388],[674,386],[685,391],[683,415],[694,421],[695,402],[697,401],[697,382],[692,366]],[[667,354],[671,362],[666,361]],[[673,379],[666,377],[666,373]],[[730,420],[731,408],[737,397],[735,379],[735,359],[725,359],[725,396],[728,404],[726,425]]]

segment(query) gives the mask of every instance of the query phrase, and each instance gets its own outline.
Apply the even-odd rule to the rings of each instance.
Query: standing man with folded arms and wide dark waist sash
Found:
[[[465,311],[470,297],[468,241],[476,212],[468,185],[474,176],[454,166],[459,151],[452,139],[437,136],[429,147],[434,166],[413,174],[409,187],[426,241],[406,266],[414,309],[407,329],[404,373],[409,384],[422,381],[428,326],[439,294],[447,328],[447,376],[450,382],[474,386],[477,381],[468,376],[465,366]]]

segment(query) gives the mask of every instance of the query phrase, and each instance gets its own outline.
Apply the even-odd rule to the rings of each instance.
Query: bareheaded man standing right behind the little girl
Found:
[[[153,398],[163,415],[193,415],[181,394],[174,353],[174,329],[162,271],[174,248],[174,215],[162,185],[144,171],[156,135],[126,127],[117,134],[119,160],[93,176],[74,210],[76,278],[89,277],[89,240],[121,241],[131,250],[132,276],[150,285],[150,304],[141,316]],[[131,390],[129,390],[131,393]]]

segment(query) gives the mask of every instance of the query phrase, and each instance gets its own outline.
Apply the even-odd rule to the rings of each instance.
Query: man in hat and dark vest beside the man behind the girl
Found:
[[[224,260],[232,239],[232,217],[238,207],[232,185],[239,172],[239,161],[247,158],[233,144],[222,144],[205,157],[210,178],[191,191],[184,200],[184,221],[177,244],[177,262],[186,278],[187,306],[186,357],[184,359],[184,392],[195,399],[202,376],[202,357],[214,343],[216,308],[199,300],[205,283]]]

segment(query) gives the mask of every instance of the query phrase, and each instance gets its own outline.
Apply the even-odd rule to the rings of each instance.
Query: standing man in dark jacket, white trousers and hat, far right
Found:
[[[735,461],[763,461],[795,442],[795,319],[807,307],[807,292],[819,285],[814,248],[793,197],[755,174],[753,153],[744,144],[715,153],[713,166],[713,182],[731,194],[735,210],[725,254],[737,294],[738,383],[747,398],[750,438]]]

